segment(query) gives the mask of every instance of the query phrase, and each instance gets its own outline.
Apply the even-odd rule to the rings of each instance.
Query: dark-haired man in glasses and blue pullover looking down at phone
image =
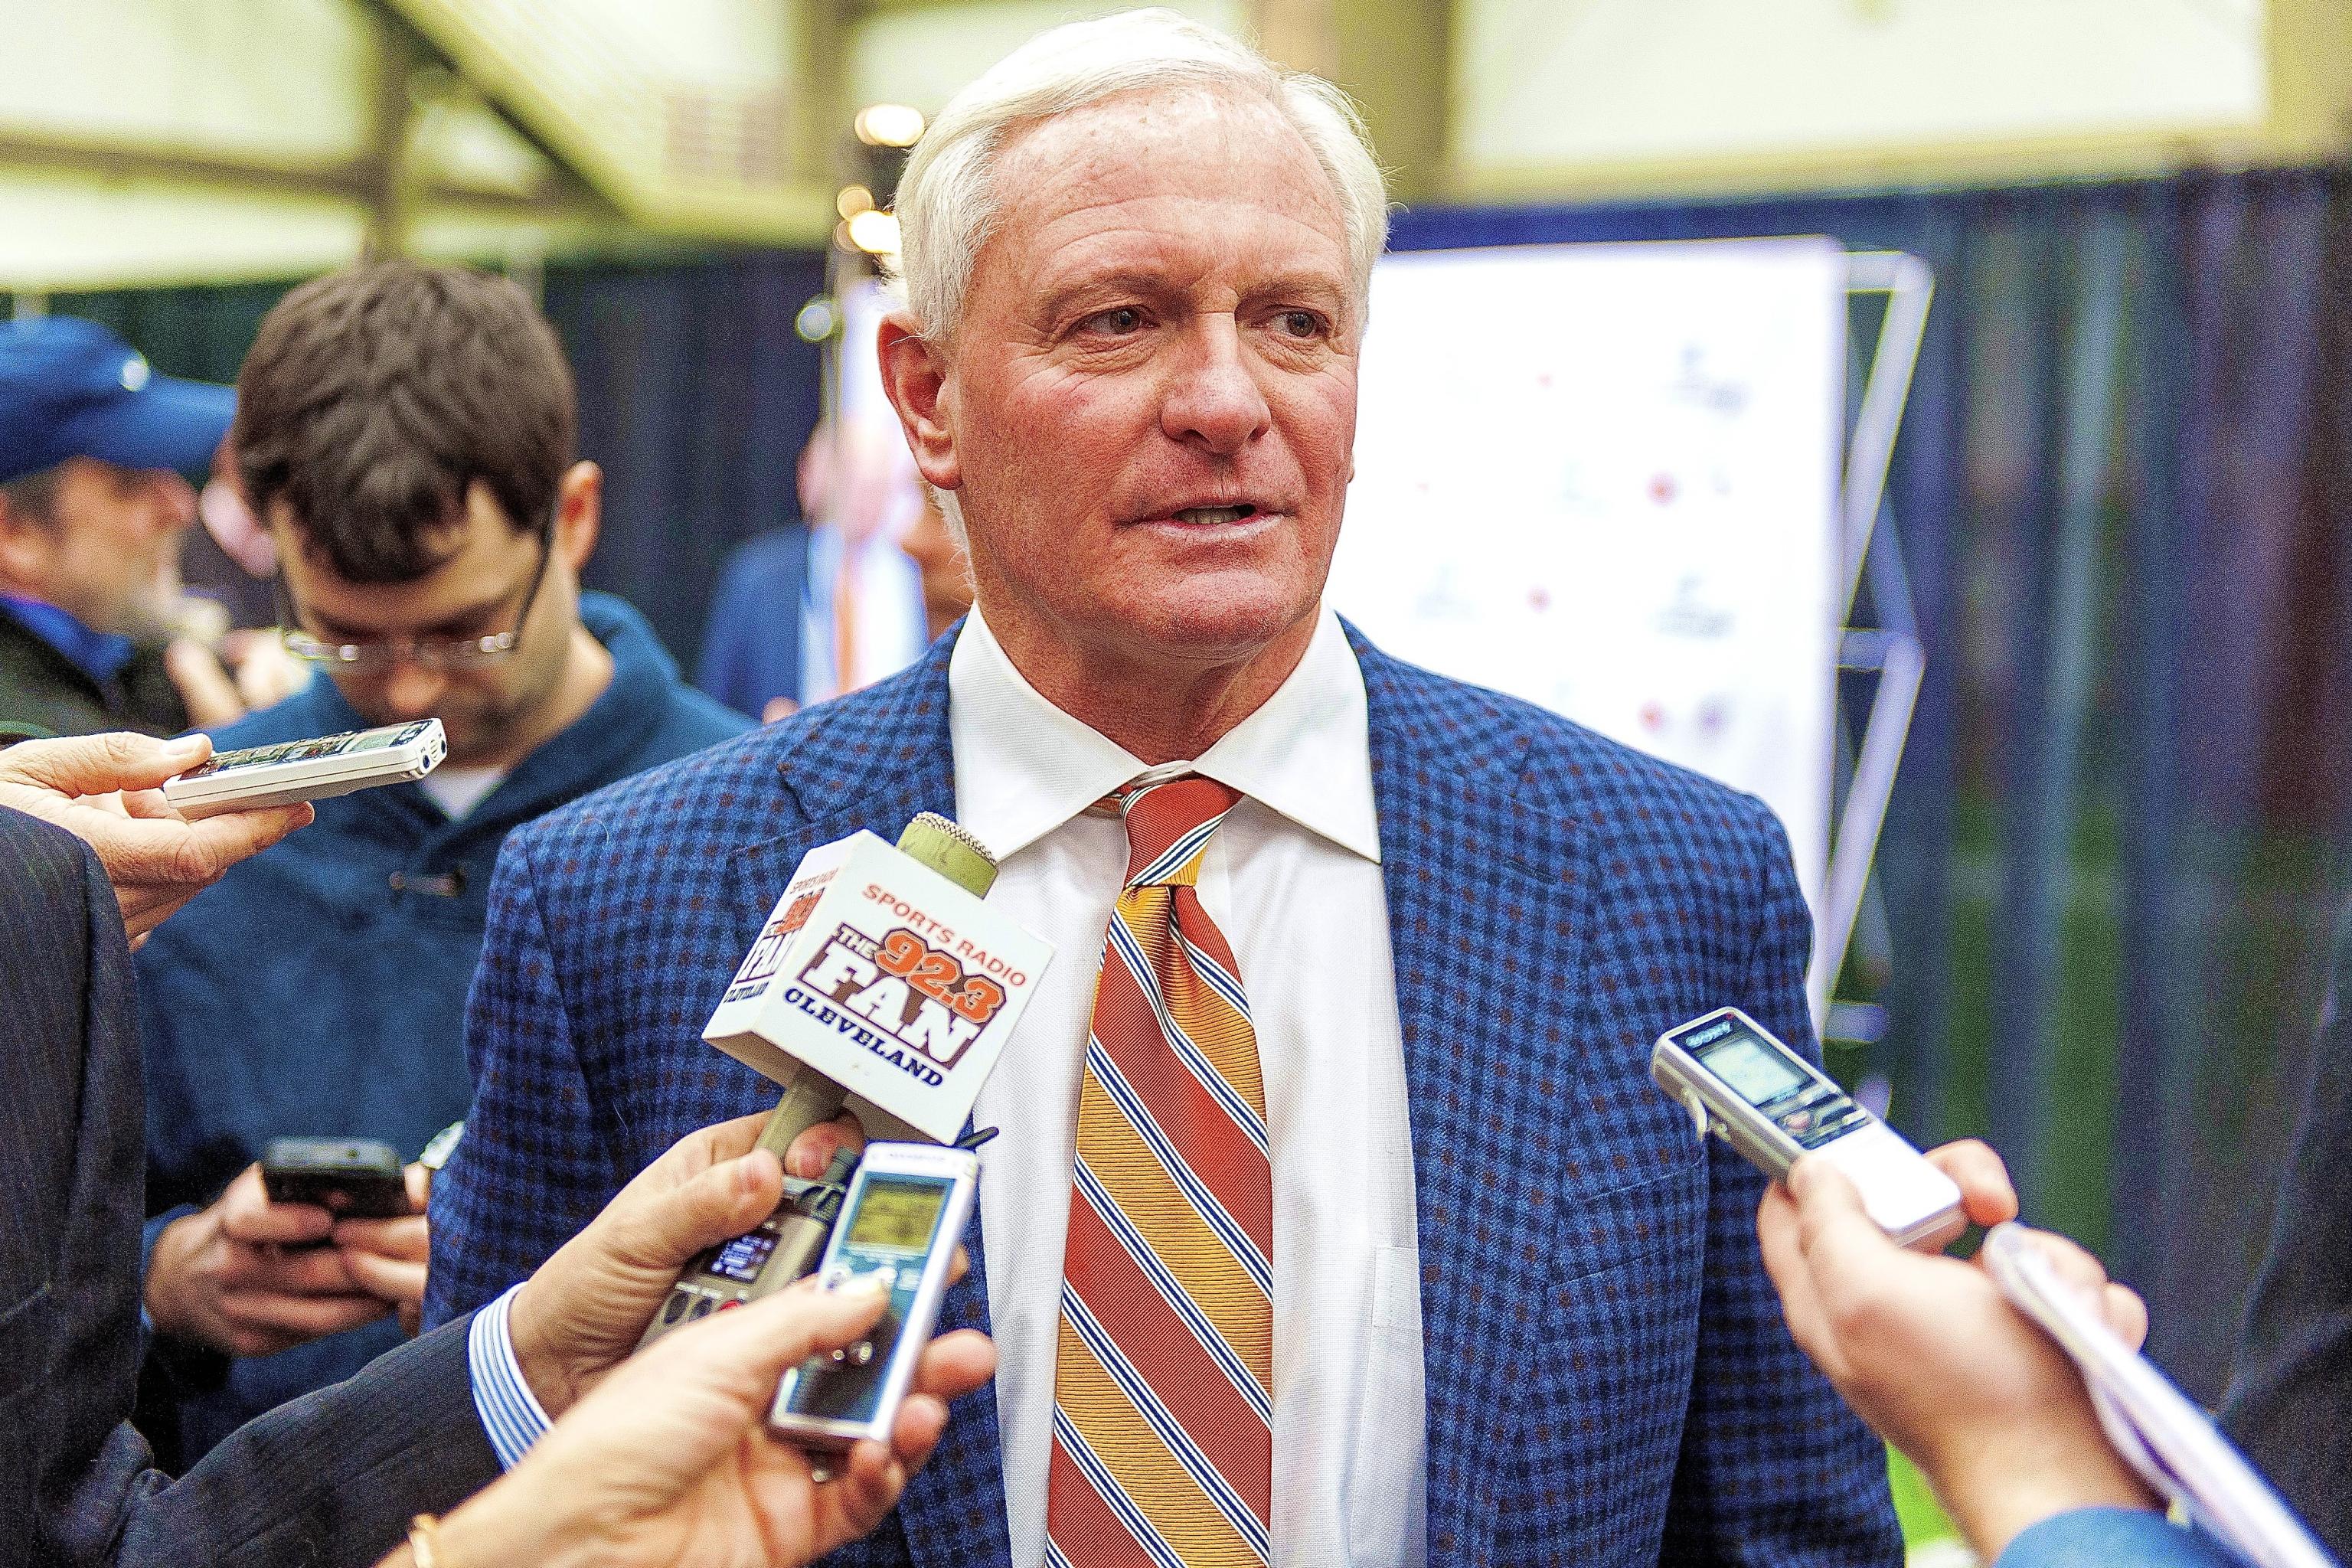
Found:
[[[466,1114],[466,987],[508,830],[748,726],[579,578],[602,475],[520,289],[362,266],[289,294],[238,378],[238,473],[287,651],[327,679],[221,750],[440,717],[421,783],[318,806],[139,954],[148,1051],[141,1425],[193,1462],[414,1326],[426,1222],[270,1204],[270,1138],[416,1159]],[[412,1175],[416,1175],[412,1171]],[[176,1427],[176,1441],[172,1429]]]

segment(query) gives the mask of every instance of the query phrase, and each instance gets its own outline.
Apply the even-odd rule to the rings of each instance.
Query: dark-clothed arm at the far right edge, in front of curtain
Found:
[[[2352,1559],[2352,907],[2223,1425],[2328,1552]]]

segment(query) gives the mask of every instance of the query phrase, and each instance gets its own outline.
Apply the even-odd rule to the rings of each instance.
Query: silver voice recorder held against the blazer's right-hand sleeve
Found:
[[[1898,1246],[1940,1251],[1969,1227],[1950,1175],[1736,1006],[1661,1034],[1649,1077],[1773,1180],[1799,1154],[1835,1164]]]

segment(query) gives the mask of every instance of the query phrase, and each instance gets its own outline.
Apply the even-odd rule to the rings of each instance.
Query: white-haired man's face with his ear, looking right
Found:
[[[1355,442],[1331,181],[1268,103],[1136,94],[1021,132],[943,350],[884,329],[931,484],[1016,663],[1305,646]],[[1296,658],[1296,654],[1291,654]]]

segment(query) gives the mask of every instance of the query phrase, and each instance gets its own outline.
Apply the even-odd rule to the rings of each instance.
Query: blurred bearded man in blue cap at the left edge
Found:
[[[0,324],[0,729],[188,726],[158,590],[235,407],[96,322]]]

